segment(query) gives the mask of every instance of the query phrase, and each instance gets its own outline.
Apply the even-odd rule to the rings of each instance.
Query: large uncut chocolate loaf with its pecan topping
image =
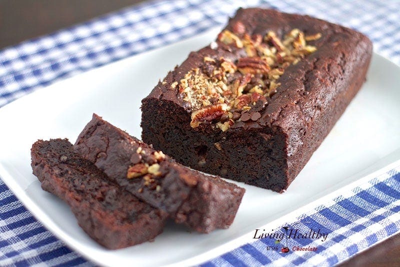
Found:
[[[283,192],[365,81],[367,37],[239,9],[142,100],[142,139],[194,169]]]

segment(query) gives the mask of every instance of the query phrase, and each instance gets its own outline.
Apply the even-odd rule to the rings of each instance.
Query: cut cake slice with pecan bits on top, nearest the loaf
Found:
[[[119,186],[198,232],[227,228],[244,189],[188,169],[93,114],[74,151]]]

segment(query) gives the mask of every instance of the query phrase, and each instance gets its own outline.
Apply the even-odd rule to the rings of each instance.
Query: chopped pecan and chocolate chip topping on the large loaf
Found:
[[[283,38],[272,31],[264,37],[250,36],[241,22],[232,26],[232,32],[224,30],[218,41],[242,49],[246,56],[234,62],[204,57],[202,66],[180,80],[179,93],[191,111],[190,126],[213,122],[216,128],[226,131],[239,120],[257,121],[270,102],[267,98],[278,92],[285,69],[315,52],[316,47],[307,42],[319,38],[319,33],[305,36],[299,29],[292,29]]]

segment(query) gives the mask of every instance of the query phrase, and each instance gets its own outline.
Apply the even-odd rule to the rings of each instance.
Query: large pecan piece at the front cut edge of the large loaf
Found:
[[[218,103],[203,107],[191,113],[191,128],[197,128],[202,122],[210,122],[220,118],[228,110],[225,103]]]

